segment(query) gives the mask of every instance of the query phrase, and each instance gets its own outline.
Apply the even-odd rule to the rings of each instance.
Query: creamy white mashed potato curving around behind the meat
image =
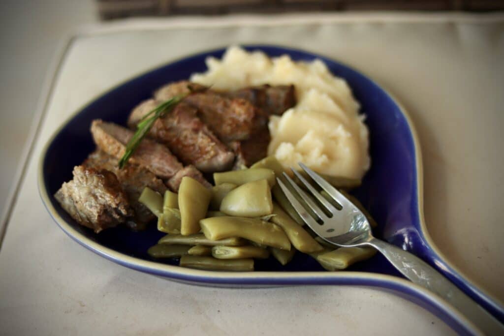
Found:
[[[222,60],[208,58],[207,66],[206,73],[191,80],[218,90],[295,86],[297,105],[271,116],[269,123],[268,154],[285,167],[303,162],[317,172],[348,178],[361,178],[369,168],[368,131],[358,114],[359,103],[321,60],[295,62],[287,55],[270,59],[262,52],[230,47]]]

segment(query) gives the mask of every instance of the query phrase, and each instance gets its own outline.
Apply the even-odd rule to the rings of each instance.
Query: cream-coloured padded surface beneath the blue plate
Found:
[[[412,115],[424,157],[434,241],[502,300],[504,137],[501,16],[349,15],[133,21],[86,30],[66,50],[0,250],[6,334],[448,334],[401,298],[373,289],[213,289],[158,279],[84,249],[37,192],[45,141],[120,81],[187,53],[276,43],[342,60],[384,84]],[[191,43],[187,43],[191,41]]]

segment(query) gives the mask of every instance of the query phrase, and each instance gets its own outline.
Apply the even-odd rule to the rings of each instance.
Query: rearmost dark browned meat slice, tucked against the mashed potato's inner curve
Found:
[[[248,100],[261,108],[267,115],[281,115],[296,105],[296,93],[293,85],[262,85],[220,93],[229,98]]]

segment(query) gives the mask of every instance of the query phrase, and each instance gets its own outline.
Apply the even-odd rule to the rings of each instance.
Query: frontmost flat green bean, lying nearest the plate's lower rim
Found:
[[[216,259],[210,256],[182,255],[180,266],[211,271],[254,271],[254,259]]]

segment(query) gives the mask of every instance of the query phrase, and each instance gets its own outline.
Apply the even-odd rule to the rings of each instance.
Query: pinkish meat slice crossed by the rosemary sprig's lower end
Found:
[[[128,128],[98,119],[91,123],[91,134],[99,149],[120,159],[134,133]],[[161,178],[170,178],[182,169],[182,164],[166,146],[149,139],[142,140],[129,162],[144,167]]]

